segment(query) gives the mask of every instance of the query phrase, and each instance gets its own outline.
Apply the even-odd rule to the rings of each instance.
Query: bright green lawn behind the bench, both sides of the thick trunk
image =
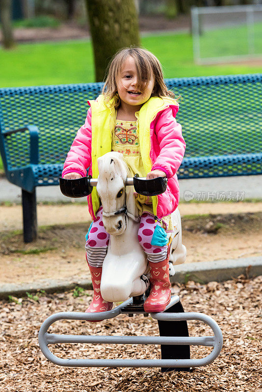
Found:
[[[244,64],[195,65],[189,34],[151,35],[142,38],[142,45],[156,54],[168,78],[261,72],[259,66]],[[95,78],[88,40],[0,48],[0,63],[0,87],[94,82]]]

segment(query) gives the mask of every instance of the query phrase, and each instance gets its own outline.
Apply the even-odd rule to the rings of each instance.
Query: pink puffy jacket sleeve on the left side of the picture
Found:
[[[71,172],[77,172],[83,177],[91,164],[91,107],[87,111],[84,125],[78,130],[77,136],[67,154],[62,177]]]

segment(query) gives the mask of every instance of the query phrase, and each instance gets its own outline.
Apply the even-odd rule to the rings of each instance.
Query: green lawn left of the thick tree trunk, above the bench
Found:
[[[94,80],[88,41],[23,44],[0,49],[0,87],[80,83]]]

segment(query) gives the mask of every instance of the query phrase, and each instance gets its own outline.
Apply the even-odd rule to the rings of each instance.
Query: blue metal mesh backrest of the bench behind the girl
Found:
[[[186,157],[256,153],[262,150],[262,74],[165,79],[182,95],[177,120],[183,125]],[[37,125],[39,163],[63,163],[87,100],[102,83],[0,89],[0,131]],[[3,140],[3,139],[2,139]],[[29,164],[28,140],[5,137],[9,169]]]

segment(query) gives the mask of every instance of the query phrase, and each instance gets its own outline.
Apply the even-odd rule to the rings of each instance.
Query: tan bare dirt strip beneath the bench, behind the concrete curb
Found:
[[[261,202],[181,203],[180,211],[186,263],[262,255]],[[0,283],[89,278],[85,204],[39,205],[38,239],[26,245],[21,214],[20,205],[0,206]]]

